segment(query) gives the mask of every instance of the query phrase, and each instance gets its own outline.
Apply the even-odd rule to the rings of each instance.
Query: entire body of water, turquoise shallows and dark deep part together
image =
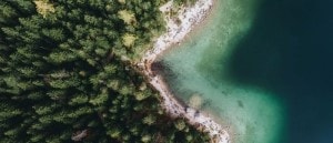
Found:
[[[160,59],[167,82],[230,125],[234,143],[333,142],[333,3],[220,0]]]

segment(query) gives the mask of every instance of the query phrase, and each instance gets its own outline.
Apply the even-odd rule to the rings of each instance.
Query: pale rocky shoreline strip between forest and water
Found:
[[[168,86],[160,75],[153,75],[151,71],[151,63],[155,58],[172,44],[180,43],[185,35],[199,24],[211,10],[213,0],[198,0],[193,7],[182,8],[178,16],[181,23],[178,25],[174,18],[171,19],[167,12],[172,7],[172,0],[162,6],[160,10],[165,13],[164,20],[167,21],[165,34],[159,37],[152,50],[148,51],[143,59],[138,63],[138,67],[143,69],[144,74],[149,78],[149,82],[153,85],[163,99],[162,106],[172,116],[184,116],[189,123],[198,126],[202,131],[208,132],[213,139],[214,143],[230,143],[229,133],[222,129],[220,124],[214,122],[211,118],[203,113],[198,112],[195,109],[183,106],[175,100],[174,95],[168,91]]]

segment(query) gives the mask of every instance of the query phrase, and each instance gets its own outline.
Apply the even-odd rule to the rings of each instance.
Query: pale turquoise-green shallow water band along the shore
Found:
[[[180,99],[194,93],[204,100],[202,110],[213,112],[235,143],[280,143],[285,109],[275,93],[256,85],[233,82],[229,59],[235,43],[251,29],[259,0],[221,0],[182,45],[161,61],[170,68],[167,81]]]

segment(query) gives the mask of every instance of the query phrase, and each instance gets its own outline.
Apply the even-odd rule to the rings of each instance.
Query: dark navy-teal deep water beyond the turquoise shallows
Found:
[[[264,0],[228,64],[286,102],[289,143],[333,142],[332,13],[330,0]]]

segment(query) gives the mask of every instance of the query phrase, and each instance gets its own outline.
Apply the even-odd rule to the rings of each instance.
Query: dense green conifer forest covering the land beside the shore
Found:
[[[1,0],[0,142],[209,142],[132,65],[167,0]]]

